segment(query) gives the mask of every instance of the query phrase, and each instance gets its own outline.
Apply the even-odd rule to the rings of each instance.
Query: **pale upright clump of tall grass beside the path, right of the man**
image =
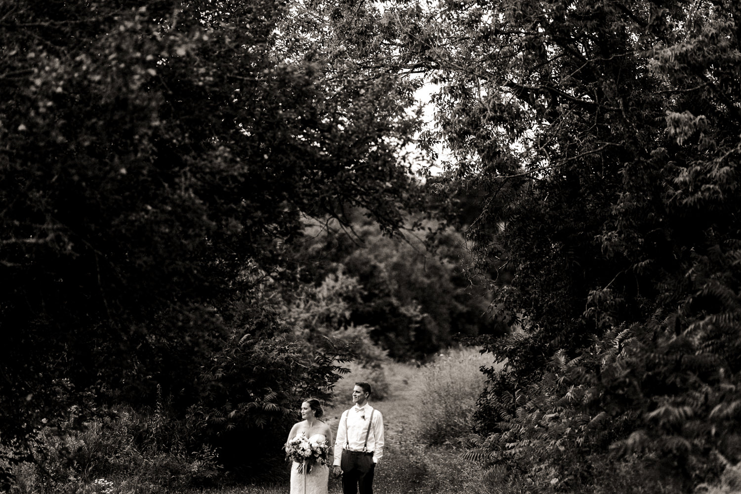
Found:
[[[419,377],[419,434],[429,445],[451,444],[471,431],[476,400],[485,387],[482,366],[491,356],[464,347],[440,353]]]

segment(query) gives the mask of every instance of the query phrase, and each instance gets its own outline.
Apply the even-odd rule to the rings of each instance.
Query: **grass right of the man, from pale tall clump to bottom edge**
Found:
[[[480,367],[490,366],[491,360],[467,347],[445,351],[419,368],[389,366],[389,380],[397,393],[379,407],[384,419],[388,412],[396,427],[379,470],[379,490],[386,494],[497,493],[479,466],[462,458],[471,415],[485,385]]]

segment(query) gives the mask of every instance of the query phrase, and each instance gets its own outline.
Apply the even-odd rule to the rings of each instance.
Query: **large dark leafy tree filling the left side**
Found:
[[[153,404],[158,384],[179,410],[203,401],[210,359],[253,341],[259,273],[286,272],[302,215],[353,204],[400,226],[408,101],[276,59],[288,14],[277,1],[0,7],[5,446],[72,404]],[[258,320],[266,341],[284,330]],[[322,369],[317,387],[336,373]],[[276,406],[247,382],[230,392],[276,419],[299,399]]]

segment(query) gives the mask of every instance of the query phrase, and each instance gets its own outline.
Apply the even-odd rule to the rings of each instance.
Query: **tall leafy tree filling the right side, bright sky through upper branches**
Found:
[[[521,332],[487,344],[507,367],[489,371],[478,457],[539,489],[639,489],[665,458],[657,485],[691,490],[741,459],[712,432],[737,427],[739,14],[399,1],[369,21],[396,40],[386,70],[439,87],[421,143],[450,150],[447,192],[487,192],[469,238],[514,273],[496,307]]]

